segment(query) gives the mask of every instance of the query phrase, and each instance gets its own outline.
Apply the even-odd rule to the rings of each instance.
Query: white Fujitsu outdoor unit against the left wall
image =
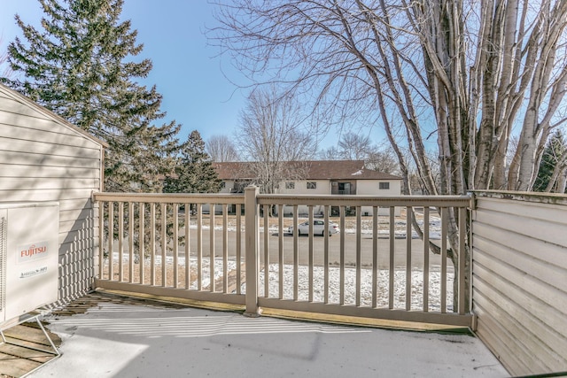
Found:
[[[0,204],[0,326],[58,300],[59,205]]]

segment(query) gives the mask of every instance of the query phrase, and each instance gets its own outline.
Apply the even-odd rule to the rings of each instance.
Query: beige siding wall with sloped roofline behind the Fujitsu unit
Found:
[[[106,146],[0,84],[0,204],[58,202],[60,302],[92,289]]]

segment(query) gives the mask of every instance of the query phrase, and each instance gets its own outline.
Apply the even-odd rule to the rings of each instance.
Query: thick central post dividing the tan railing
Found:
[[[245,316],[252,318],[260,316],[258,306],[258,268],[260,243],[259,206],[256,201],[259,189],[256,186],[248,186],[245,189],[245,256],[246,256],[246,310]]]

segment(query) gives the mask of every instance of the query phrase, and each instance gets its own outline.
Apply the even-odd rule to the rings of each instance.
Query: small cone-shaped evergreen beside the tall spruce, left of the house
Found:
[[[166,193],[217,193],[221,180],[214,170],[213,161],[205,151],[205,142],[193,130],[183,144],[181,157],[175,166],[175,176],[168,177]]]

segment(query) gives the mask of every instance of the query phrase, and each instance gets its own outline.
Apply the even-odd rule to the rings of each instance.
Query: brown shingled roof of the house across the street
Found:
[[[305,169],[303,180],[401,180],[393,174],[364,168],[362,160],[307,160],[287,164]],[[221,180],[254,180],[253,162],[214,163]]]

